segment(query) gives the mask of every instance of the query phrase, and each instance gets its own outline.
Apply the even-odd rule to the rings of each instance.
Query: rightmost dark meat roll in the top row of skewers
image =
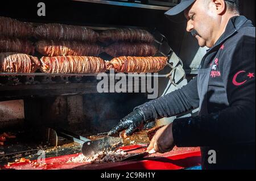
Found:
[[[101,42],[109,41],[130,41],[152,43],[155,39],[150,32],[133,28],[118,28],[106,30],[100,33],[99,40]]]

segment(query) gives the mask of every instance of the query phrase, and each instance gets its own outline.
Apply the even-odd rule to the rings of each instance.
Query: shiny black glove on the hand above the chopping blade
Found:
[[[141,129],[144,123],[143,113],[137,109],[121,119],[121,121],[111,131],[109,131],[108,135],[112,135],[126,129],[125,134],[130,136],[136,129]]]

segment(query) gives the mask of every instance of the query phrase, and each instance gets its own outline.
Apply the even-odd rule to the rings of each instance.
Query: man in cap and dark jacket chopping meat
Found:
[[[143,124],[199,107],[156,132],[148,150],[200,146],[203,169],[255,169],[255,27],[236,0],[182,0],[166,12],[187,18],[187,31],[209,50],[186,86],[138,106],[109,132],[132,134]],[[170,18],[170,17],[169,17]],[[213,151],[216,162],[209,162]]]

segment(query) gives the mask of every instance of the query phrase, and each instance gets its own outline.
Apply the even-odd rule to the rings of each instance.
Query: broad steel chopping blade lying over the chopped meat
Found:
[[[123,144],[123,139],[119,137],[119,134],[112,136],[105,136],[98,140],[86,141],[82,144],[82,154],[85,157],[92,156],[100,151],[110,151],[118,148]]]

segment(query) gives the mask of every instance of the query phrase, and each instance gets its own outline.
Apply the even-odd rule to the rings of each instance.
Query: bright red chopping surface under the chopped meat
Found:
[[[139,145],[124,146],[122,150],[131,150],[138,148]],[[140,153],[145,149],[132,151]],[[131,152],[129,152],[131,153]],[[79,153],[81,154],[81,153]],[[44,165],[32,163],[32,161],[23,163],[14,163],[10,166],[5,165],[2,169],[15,170],[52,170],[52,169],[81,169],[81,170],[177,170],[192,166],[201,165],[200,148],[177,148],[164,154],[155,153],[148,155],[140,160],[124,161],[115,163],[67,163],[72,157],[79,154],[63,155],[60,157],[46,158]],[[36,162],[36,161],[34,161]]]

